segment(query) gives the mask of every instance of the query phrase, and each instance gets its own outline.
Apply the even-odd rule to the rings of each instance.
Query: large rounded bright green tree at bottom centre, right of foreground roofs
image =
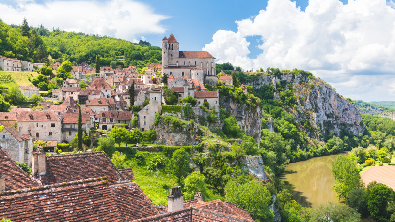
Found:
[[[236,204],[251,215],[255,221],[273,221],[270,211],[272,195],[260,181],[236,184],[231,181],[225,186],[225,200]]]

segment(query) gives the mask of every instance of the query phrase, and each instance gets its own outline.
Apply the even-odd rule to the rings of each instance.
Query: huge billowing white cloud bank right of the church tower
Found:
[[[309,0],[301,11],[291,0],[269,0],[258,15],[236,21],[237,32],[217,31],[204,50],[220,63],[229,61],[244,69],[310,70],[341,94],[348,93],[345,96],[391,99],[388,93],[395,92],[388,84],[395,73],[393,7],[395,3],[386,0],[348,0],[345,5],[339,0]],[[256,58],[247,57],[249,36],[262,40],[258,45],[262,52]],[[226,50],[231,48],[236,50]],[[360,79],[370,88],[361,88],[366,83]]]

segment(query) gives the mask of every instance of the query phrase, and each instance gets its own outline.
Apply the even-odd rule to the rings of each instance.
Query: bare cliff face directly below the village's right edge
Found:
[[[261,140],[262,127],[262,109],[258,105],[249,107],[246,104],[238,104],[232,100],[220,100],[220,107],[234,116],[237,125],[246,132],[247,135],[253,136],[259,144]]]

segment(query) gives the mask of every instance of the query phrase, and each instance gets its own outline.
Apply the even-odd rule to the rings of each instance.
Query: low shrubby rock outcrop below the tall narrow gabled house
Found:
[[[188,124],[185,128],[174,128],[172,122],[166,124],[163,119],[160,120],[158,125],[154,126],[153,130],[157,134],[157,141],[162,144],[171,146],[187,146],[193,145],[194,135],[199,130],[195,124]]]

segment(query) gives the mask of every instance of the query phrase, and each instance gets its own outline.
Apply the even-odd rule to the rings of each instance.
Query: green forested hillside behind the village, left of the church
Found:
[[[8,25],[0,19],[0,43],[0,55],[47,64],[68,60],[73,65],[87,62],[95,67],[96,55],[101,57],[101,66],[113,68],[130,65],[143,68],[148,62],[162,61],[162,49],[146,41],[136,44],[108,36],[50,31],[42,25],[29,26],[26,19],[21,25]]]

